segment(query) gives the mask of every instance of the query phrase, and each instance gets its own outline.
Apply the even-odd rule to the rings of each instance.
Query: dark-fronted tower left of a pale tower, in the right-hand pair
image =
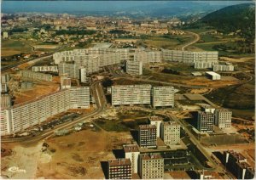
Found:
[[[200,132],[212,132],[214,114],[211,112],[197,111],[195,115],[196,129]]]

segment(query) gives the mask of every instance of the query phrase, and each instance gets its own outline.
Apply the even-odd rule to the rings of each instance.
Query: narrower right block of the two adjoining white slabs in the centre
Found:
[[[153,87],[152,90],[152,105],[153,107],[174,107],[174,87]]]

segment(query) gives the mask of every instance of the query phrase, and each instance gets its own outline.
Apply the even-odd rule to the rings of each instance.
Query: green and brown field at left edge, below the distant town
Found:
[[[1,46],[1,56],[11,56],[19,53],[30,53],[32,47],[26,42],[15,40],[3,40]]]

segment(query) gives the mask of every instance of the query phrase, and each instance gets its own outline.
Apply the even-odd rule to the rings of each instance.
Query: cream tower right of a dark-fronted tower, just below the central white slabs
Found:
[[[161,139],[168,146],[180,143],[180,125],[175,121],[166,121],[161,123]]]

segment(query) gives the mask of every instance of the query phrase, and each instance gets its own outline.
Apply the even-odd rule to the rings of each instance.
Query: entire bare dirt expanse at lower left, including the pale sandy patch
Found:
[[[43,143],[49,144],[44,152]],[[1,171],[3,176],[17,179],[102,179],[101,161],[113,159],[112,149],[121,149],[124,143],[131,143],[129,132],[94,132],[90,129],[29,146],[26,143],[3,143],[4,149],[12,149],[14,153],[1,158]],[[26,173],[9,172],[11,166],[26,170]]]

